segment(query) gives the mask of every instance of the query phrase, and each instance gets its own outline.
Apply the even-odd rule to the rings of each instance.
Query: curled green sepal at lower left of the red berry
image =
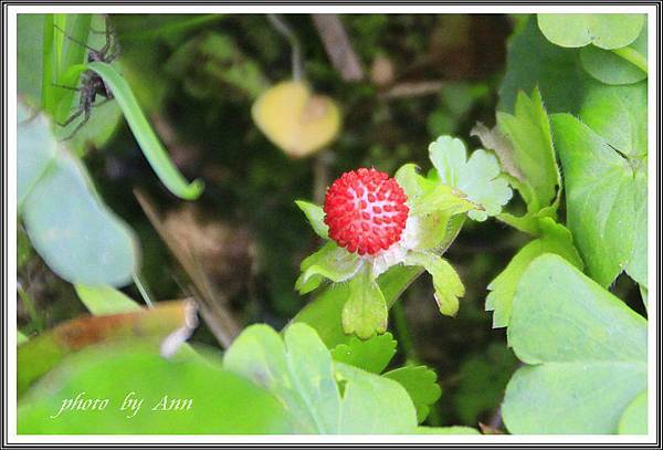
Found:
[[[323,279],[339,283],[351,278],[362,261],[356,253],[339,248],[334,242],[327,242],[320,250],[302,261],[302,274],[295,289],[301,294],[315,290]]]

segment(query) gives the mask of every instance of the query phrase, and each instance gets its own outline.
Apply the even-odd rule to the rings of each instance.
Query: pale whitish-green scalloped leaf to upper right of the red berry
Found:
[[[440,181],[461,190],[483,208],[470,211],[470,218],[484,221],[496,216],[512,198],[508,182],[498,178],[499,164],[494,155],[478,149],[467,159],[465,145],[451,136],[440,136],[429,146],[429,153]]]

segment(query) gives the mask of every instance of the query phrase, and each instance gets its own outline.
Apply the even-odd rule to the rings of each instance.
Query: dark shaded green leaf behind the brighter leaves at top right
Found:
[[[507,44],[506,74],[499,86],[497,109],[512,113],[519,91],[538,87],[548,114],[575,113],[582,102],[579,86],[586,76],[578,50],[548,42],[536,18],[530,17]]]

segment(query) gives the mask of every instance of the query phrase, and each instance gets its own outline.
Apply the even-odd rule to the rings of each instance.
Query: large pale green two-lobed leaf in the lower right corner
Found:
[[[509,432],[617,432],[646,387],[646,335],[643,317],[569,262],[537,258],[518,284],[508,327],[527,364],[502,406]]]

